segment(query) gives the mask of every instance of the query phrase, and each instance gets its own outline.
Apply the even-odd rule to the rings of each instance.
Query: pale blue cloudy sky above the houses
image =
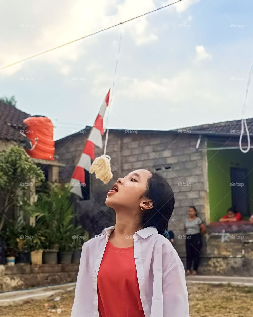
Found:
[[[0,66],[173,0],[1,0]],[[0,97],[48,116],[59,139],[93,125],[112,86],[121,27],[0,71]],[[110,128],[241,119],[253,63],[251,0],[182,0],[123,25]],[[252,83],[253,85],[253,83]],[[246,116],[253,117],[253,86]]]

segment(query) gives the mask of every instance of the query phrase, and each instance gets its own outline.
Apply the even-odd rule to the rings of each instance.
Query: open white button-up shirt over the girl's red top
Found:
[[[97,275],[114,228],[83,244],[71,317],[98,317]],[[172,244],[155,227],[136,231],[133,238],[145,317],[189,317],[185,270]]]

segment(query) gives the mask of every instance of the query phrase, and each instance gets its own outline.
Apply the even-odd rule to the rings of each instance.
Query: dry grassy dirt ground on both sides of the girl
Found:
[[[253,288],[224,285],[188,284],[191,317],[252,317]],[[74,291],[35,300],[15,307],[0,307],[5,317],[70,317]],[[57,313],[60,308],[60,314]],[[177,316],[179,317],[179,316]]]

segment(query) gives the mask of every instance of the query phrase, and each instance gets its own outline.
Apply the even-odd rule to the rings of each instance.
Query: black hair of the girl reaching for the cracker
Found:
[[[174,209],[174,192],[164,177],[154,172],[151,174],[142,196],[152,200],[153,208],[142,213],[142,228],[154,226],[163,235]]]

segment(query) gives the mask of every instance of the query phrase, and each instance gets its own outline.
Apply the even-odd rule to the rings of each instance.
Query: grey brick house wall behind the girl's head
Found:
[[[77,163],[87,135],[78,134],[56,142],[56,153],[59,161],[66,164],[60,171],[60,177],[69,180],[73,167]],[[207,165],[206,153],[195,148],[198,135],[182,133],[123,133],[122,131],[110,130],[106,154],[111,156],[113,178],[104,185],[90,175],[91,199],[79,203],[81,210],[108,210],[105,205],[108,188],[116,183],[117,178],[124,177],[130,171],[136,169],[155,168],[170,169],[156,171],[164,176],[172,186],[175,194],[175,208],[169,221],[169,230],[175,233],[175,245],[180,255],[185,254],[185,240],[178,238],[184,235],[184,222],[187,217],[188,207],[196,206],[199,217],[208,221],[207,200]],[[104,149],[105,135],[103,136]],[[206,140],[200,142],[200,148],[205,148]],[[95,148],[95,157],[103,154],[103,150]]]

